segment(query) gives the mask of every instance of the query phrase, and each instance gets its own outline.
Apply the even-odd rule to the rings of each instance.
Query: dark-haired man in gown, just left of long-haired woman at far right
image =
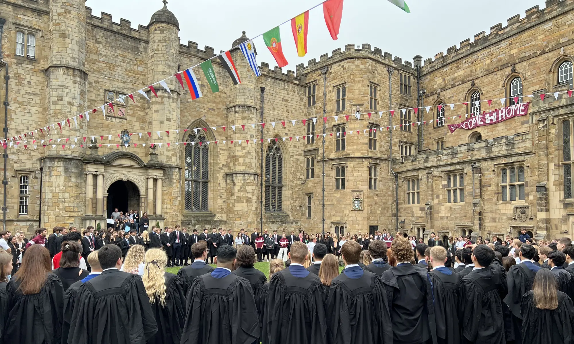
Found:
[[[536,253],[536,248],[532,245],[523,244],[519,250],[518,257],[521,260],[520,264],[512,265],[509,271],[506,272],[506,283],[508,285],[508,294],[504,298],[504,302],[508,305],[511,312],[511,326],[514,335],[515,343],[522,343],[520,334],[522,332],[522,315],[520,314],[520,304],[522,296],[526,292],[532,290],[534,283],[534,276],[540,267],[537,267],[532,262]],[[508,331],[507,331],[508,332]]]

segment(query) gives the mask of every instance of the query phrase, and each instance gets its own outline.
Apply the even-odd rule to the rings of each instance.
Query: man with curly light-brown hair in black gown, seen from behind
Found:
[[[425,245],[426,246],[426,245]],[[405,237],[391,244],[397,266],[383,272],[394,344],[436,343],[433,295],[426,270],[415,267],[413,245]]]

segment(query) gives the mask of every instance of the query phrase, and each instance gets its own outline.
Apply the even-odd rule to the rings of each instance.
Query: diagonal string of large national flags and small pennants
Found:
[[[410,13],[409,7],[406,5],[406,3],[403,0],[388,0],[388,1],[393,3],[396,6],[400,7],[402,10],[406,11],[407,13]],[[285,21],[284,23],[280,24],[279,26],[276,26],[275,28],[267,31],[266,33],[259,34],[258,36],[255,36],[253,39],[251,39],[247,42],[243,42],[242,44],[240,44],[238,46],[232,47],[230,50],[235,49],[235,48],[240,48],[242,53],[243,53],[243,56],[245,56],[246,60],[249,62],[251,69],[255,73],[255,76],[259,77],[259,76],[261,76],[261,71],[259,71],[259,67],[257,65],[257,60],[255,60],[255,51],[254,51],[254,46],[253,46],[253,40],[255,38],[262,36],[263,41],[265,42],[265,45],[267,46],[267,48],[269,48],[269,51],[273,54],[273,57],[276,59],[279,67],[284,67],[285,65],[288,64],[288,62],[286,61],[285,56],[283,54],[279,27],[281,25],[287,23],[287,22],[291,23],[293,38],[295,41],[298,56],[301,56],[301,57],[305,56],[305,54],[307,53],[307,34],[308,34],[308,28],[309,28],[309,26],[308,26],[309,11],[312,9],[315,9],[315,7],[319,7],[321,5],[323,5],[323,12],[324,12],[325,24],[327,25],[327,29],[329,30],[329,33],[331,34],[331,37],[333,38],[333,40],[336,40],[338,38],[337,36],[339,34],[339,27],[340,27],[341,18],[343,15],[343,0],[326,0],[326,1],[319,3],[318,5],[311,7],[311,9],[304,11],[302,14],[297,15],[296,17],[290,19],[289,21]],[[156,88],[159,86],[164,88],[171,95],[171,90],[169,89],[168,84],[166,83],[166,80],[169,80],[172,77],[176,77],[177,81],[179,81],[179,83],[181,84],[181,87],[184,89],[184,91],[185,91],[185,87],[184,87],[184,79],[185,79],[185,83],[187,84],[189,94],[191,95],[191,99],[195,100],[195,99],[203,96],[203,93],[201,93],[201,89],[199,87],[199,83],[197,83],[197,78],[195,76],[195,73],[193,72],[193,68],[196,68],[196,67],[200,67],[202,69],[202,71],[205,75],[205,78],[207,79],[207,82],[210,85],[211,91],[212,92],[219,92],[219,84],[218,84],[217,79],[215,77],[215,72],[213,69],[212,62],[211,62],[211,60],[213,58],[218,58],[218,60],[223,64],[223,67],[226,69],[226,71],[229,74],[234,85],[241,84],[241,79],[239,78],[239,74],[237,72],[237,69],[235,68],[235,63],[231,57],[230,50],[227,50],[226,52],[220,53],[214,57],[211,57],[210,59],[208,59],[204,62],[201,62],[200,64],[196,64],[196,65],[194,65],[188,69],[185,69],[185,71],[177,72],[176,74],[169,76],[164,80],[157,81],[156,83],[153,83],[152,85],[148,85],[142,89],[138,89],[137,91],[132,92],[128,95],[120,96],[120,97],[118,97],[118,99],[116,99],[114,101],[110,101],[106,104],[100,105],[99,107],[95,107],[90,111],[84,112],[83,114],[77,114],[76,116],[62,120],[62,121],[57,122],[57,123],[49,124],[48,126],[42,127],[40,129],[28,131],[28,132],[25,132],[24,134],[19,134],[19,135],[13,136],[13,138],[11,138],[11,140],[13,140],[15,137],[20,137],[22,135],[24,135],[24,137],[27,137],[28,135],[34,136],[34,134],[36,134],[36,135],[38,134],[38,131],[40,132],[40,134],[44,134],[44,132],[46,132],[49,135],[49,134],[51,134],[52,130],[56,130],[56,126],[58,126],[58,128],[60,129],[60,132],[61,132],[62,127],[65,127],[66,124],[68,124],[68,127],[71,127],[71,120],[73,120],[75,127],[77,128],[78,120],[82,120],[85,118],[86,122],[89,122],[90,121],[90,114],[96,114],[96,112],[98,112],[98,110],[102,110],[102,114],[105,116],[106,115],[106,107],[110,107],[113,110],[114,109],[113,103],[115,101],[117,101],[118,103],[121,103],[121,104],[126,104],[126,102],[127,102],[126,97],[127,97],[131,101],[133,101],[133,103],[135,104],[134,95],[136,93],[139,93],[139,95],[145,97],[146,100],[151,101],[147,95],[147,92],[149,91],[149,92],[153,93],[154,96],[158,97]]]

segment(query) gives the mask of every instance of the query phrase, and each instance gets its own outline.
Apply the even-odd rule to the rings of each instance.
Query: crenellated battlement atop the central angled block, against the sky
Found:
[[[390,53],[384,52],[380,48],[371,49],[370,44],[362,44],[358,47],[355,47],[354,44],[347,44],[345,45],[345,49],[341,50],[341,48],[333,50],[331,56],[329,54],[323,54],[319,56],[319,61],[317,62],[316,58],[312,58],[307,62],[307,66],[304,64],[298,64],[296,67],[297,75],[300,74],[307,74],[312,71],[316,71],[317,69],[321,69],[327,65],[331,65],[335,62],[343,61],[348,58],[372,58],[375,61],[381,62],[382,64],[389,65],[395,69],[401,69],[408,73],[416,73],[416,70],[413,68],[413,63],[410,61],[402,61],[402,58],[395,56],[393,60],[393,56]],[[416,67],[417,61],[420,64],[420,58],[415,56],[413,58],[414,65]]]

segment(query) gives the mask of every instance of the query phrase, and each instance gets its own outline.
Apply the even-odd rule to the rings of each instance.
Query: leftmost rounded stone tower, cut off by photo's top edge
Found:
[[[71,118],[85,110],[87,102],[86,2],[84,0],[50,0],[49,57],[46,76],[46,125]],[[83,124],[83,123],[82,123]],[[52,137],[86,136],[86,127],[64,123]],[[54,131],[52,131],[54,133]],[[73,142],[69,142],[73,143]],[[79,144],[79,143],[78,143]],[[50,148],[51,146],[46,146]],[[42,158],[44,191],[41,211],[43,225],[51,228],[66,223],[80,223],[86,179],[83,151],[69,147],[46,149]]]

